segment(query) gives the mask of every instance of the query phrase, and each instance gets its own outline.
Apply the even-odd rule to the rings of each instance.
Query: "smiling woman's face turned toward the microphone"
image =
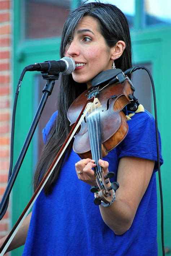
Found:
[[[65,56],[75,61],[74,81],[87,83],[88,87],[98,73],[111,69],[113,63],[112,48],[106,45],[98,22],[90,16],[84,16],[76,27],[73,38],[67,43]]]

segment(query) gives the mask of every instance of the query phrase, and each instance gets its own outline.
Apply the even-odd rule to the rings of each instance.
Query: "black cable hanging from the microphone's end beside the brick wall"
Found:
[[[21,87],[21,83],[23,80],[23,77],[26,73],[27,69],[24,68],[19,80],[18,80],[18,84],[17,84],[17,89],[16,89],[16,94],[15,94],[15,98],[14,98],[14,104],[13,104],[13,113],[12,113],[12,127],[11,127],[11,141],[10,141],[10,164],[9,164],[9,171],[8,171],[8,182],[10,179],[10,176],[12,174],[12,168],[13,168],[13,158],[14,158],[14,129],[15,129],[15,119],[16,119],[16,107],[17,107],[17,99],[18,99],[18,94],[19,94],[19,90]],[[6,201],[5,205],[3,206],[3,210],[0,212],[0,219],[2,219],[6,213],[6,210],[8,208],[8,204],[9,204],[9,198]]]

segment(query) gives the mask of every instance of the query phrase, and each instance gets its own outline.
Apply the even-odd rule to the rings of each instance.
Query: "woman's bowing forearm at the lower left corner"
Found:
[[[26,242],[26,237],[27,237],[27,232],[29,229],[29,224],[30,224],[30,219],[31,219],[31,213],[25,218],[25,220],[23,221],[21,227],[19,228],[19,230],[17,231],[17,234],[14,236],[14,239],[12,240],[12,242],[10,243],[7,252],[12,251],[20,246],[22,246],[23,244],[25,244]],[[2,246],[2,244],[4,243],[6,237],[8,235],[4,236],[1,240],[0,240],[0,247]]]

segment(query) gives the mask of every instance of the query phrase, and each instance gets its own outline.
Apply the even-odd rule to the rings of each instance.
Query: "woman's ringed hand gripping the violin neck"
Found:
[[[106,161],[102,161],[101,159],[98,161],[99,165],[103,167],[105,174],[108,172],[109,163]],[[96,184],[96,176],[95,172],[92,168],[96,166],[95,161],[87,158],[82,159],[75,164],[75,170],[78,178],[91,186],[95,186]]]

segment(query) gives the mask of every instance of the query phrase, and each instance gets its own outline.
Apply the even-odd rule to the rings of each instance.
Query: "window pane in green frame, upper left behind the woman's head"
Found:
[[[70,0],[25,0],[22,16],[22,39],[60,37],[70,13]]]

